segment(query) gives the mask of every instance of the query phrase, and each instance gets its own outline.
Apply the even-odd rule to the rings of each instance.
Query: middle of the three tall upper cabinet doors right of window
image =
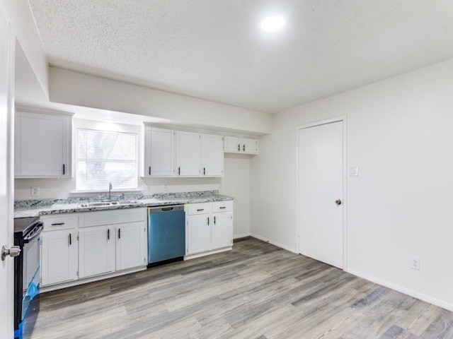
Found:
[[[200,134],[176,131],[176,175],[200,176]]]

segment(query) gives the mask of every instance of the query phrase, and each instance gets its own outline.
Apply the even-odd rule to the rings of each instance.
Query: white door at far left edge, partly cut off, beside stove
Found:
[[[0,247],[13,245],[11,124],[13,37],[0,4]],[[0,261],[0,338],[13,338],[13,258]]]

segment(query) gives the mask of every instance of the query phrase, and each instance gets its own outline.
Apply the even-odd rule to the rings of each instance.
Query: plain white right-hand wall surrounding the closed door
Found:
[[[347,116],[351,273],[453,310],[453,59],[275,114],[251,161],[251,232],[296,251],[297,126]],[[410,268],[420,257],[420,271]]]

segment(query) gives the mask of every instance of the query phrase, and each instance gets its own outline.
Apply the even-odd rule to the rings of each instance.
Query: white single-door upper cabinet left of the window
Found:
[[[15,177],[70,177],[71,116],[16,112],[15,119]]]

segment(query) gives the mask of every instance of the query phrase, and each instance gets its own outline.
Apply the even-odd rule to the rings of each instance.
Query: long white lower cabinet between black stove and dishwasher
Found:
[[[147,265],[147,208],[41,219],[43,287]]]

